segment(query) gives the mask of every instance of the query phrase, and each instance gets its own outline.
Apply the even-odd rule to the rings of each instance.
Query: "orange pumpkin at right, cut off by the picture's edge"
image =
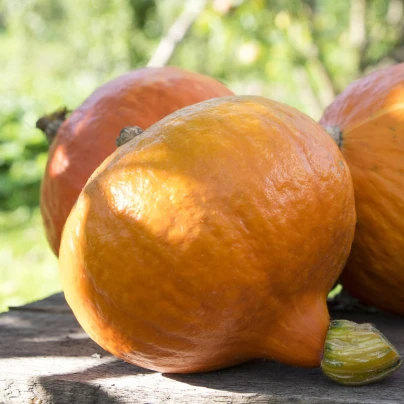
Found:
[[[404,315],[404,64],[351,84],[320,122],[341,134],[358,222],[341,282],[364,303]]]

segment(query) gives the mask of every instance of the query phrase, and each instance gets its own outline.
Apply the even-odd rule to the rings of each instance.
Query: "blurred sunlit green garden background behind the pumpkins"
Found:
[[[0,311],[60,290],[39,187],[43,114],[129,69],[170,64],[319,119],[404,61],[403,0],[0,0]],[[170,48],[169,44],[172,44]],[[167,45],[168,44],[168,45]]]

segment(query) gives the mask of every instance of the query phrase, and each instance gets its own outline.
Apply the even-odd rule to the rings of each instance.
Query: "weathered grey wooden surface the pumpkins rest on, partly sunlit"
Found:
[[[372,322],[404,355],[404,319],[334,312]],[[62,294],[0,315],[0,403],[404,403],[404,369],[364,387],[343,387],[318,369],[253,361],[218,372],[169,375],[126,364],[77,324]]]

